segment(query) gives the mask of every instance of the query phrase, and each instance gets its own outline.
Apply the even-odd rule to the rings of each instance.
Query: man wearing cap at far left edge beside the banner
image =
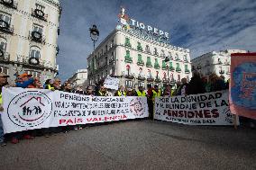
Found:
[[[1,115],[4,112],[2,90],[5,85],[8,85],[7,77],[9,77],[9,76],[5,75],[4,73],[0,73],[0,146],[1,147],[6,146]]]

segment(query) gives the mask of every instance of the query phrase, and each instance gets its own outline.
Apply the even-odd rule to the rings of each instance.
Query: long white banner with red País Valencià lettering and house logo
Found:
[[[97,97],[44,89],[4,88],[5,133],[149,116],[146,97]]]

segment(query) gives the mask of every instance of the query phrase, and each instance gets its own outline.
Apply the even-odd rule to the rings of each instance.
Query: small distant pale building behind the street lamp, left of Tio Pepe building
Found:
[[[73,88],[78,86],[87,86],[87,69],[78,69],[76,73],[69,78],[69,83]]]

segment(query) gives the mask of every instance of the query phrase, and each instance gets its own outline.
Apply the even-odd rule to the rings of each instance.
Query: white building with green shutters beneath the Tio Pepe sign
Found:
[[[119,77],[121,85],[127,87],[162,86],[169,81],[174,85],[183,77],[190,79],[188,49],[172,46],[169,40],[157,40],[160,38],[136,26],[129,27],[118,25],[88,56],[90,85],[109,75]],[[166,57],[169,57],[168,63],[164,61]]]

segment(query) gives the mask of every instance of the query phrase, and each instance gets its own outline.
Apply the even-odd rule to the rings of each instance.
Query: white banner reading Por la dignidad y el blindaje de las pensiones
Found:
[[[154,119],[189,125],[233,125],[228,91],[158,97],[155,101]]]

